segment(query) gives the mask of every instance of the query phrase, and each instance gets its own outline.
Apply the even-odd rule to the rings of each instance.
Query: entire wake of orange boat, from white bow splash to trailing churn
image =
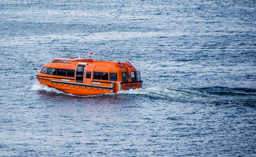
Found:
[[[31,91],[44,91],[53,94],[64,94],[71,97],[115,97],[115,99],[123,99],[131,97],[140,97],[143,100],[163,100],[163,101],[177,101],[187,103],[206,103],[211,105],[224,104],[244,104],[249,106],[256,106],[256,100],[252,97],[256,96],[256,91],[253,89],[242,88],[193,88],[193,89],[175,89],[163,87],[151,88],[137,88],[134,90],[123,90],[118,93],[108,93],[100,95],[77,96],[68,94],[64,91],[51,88],[40,83],[34,83],[30,88]]]

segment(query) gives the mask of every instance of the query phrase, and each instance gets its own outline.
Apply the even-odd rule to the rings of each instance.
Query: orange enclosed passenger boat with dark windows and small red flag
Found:
[[[130,62],[82,58],[55,58],[42,66],[36,78],[41,84],[75,95],[117,93],[142,88],[140,71]]]

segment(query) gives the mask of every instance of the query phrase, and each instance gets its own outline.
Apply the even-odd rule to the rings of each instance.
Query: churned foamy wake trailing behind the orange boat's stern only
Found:
[[[119,91],[119,94],[135,94],[149,99],[169,100],[186,103],[204,103],[210,105],[246,105],[256,106],[256,90],[248,88],[207,87],[193,89],[175,88],[138,88]]]

